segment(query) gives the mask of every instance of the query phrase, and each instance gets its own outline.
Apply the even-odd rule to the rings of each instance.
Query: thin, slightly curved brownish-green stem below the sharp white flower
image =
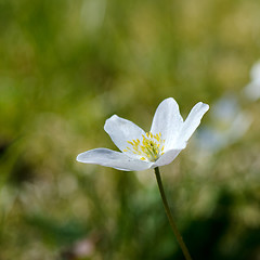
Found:
[[[161,196],[161,199],[162,199],[162,203],[164,203],[164,206],[165,206],[165,210],[166,210],[168,220],[170,222],[170,225],[172,227],[172,231],[173,231],[173,233],[174,233],[174,235],[177,237],[177,240],[178,240],[178,243],[179,243],[179,245],[180,245],[180,247],[182,249],[182,252],[183,252],[185,259],[186,260],[192,260],[191,255],[190,255],[190,252],[187,250],[187,247],[186,247],[185,243],[183,242],[182,236],[181,236],[179,230],[177,229],[174,219],[173,219],[173,217],[171,214],[168,202],[166,199],[166,195],[165,195],[164,186],[162,186],[162,183],[161,183],[161,179],[160,179],[160,173],[159,173],[159,168],[158,167],[155,168],[155,176],[156,176],[156,180],[157,180],[157,183],[158,183],[158,186],[159,186],[160,196]]]

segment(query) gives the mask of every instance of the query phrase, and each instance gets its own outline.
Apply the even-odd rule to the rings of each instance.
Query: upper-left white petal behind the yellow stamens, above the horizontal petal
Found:
[[[118,117],[117,115],[114,115],[106,120],[104,129],[120,151],[126,150],[127,146],[131,146],[127,141],[136,139],[141,141],[142,134],[145,134],[145,132],[135,123]],[[131,157],[139,158],[139,156],[132,154],[131,152],[123,153]]]

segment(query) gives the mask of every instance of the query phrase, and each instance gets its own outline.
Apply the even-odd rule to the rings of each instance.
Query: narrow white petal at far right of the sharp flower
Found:
[[[204,114],[209,109],[209,105],[198,102],[190,112],[181,129],[178,143],[185,143],[197,129]]]

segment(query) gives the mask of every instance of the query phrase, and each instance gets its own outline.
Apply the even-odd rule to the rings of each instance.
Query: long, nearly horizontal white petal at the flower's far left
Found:
[[[107,148],[87,151],[77,156],[77,160],[84,164],[94,164],[112,167],[123,171],[139,171],[148,169],[152,162],[133,159],[126,154]]]

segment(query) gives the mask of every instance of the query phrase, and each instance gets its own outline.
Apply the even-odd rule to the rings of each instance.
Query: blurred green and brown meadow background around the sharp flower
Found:
[[[260,259],[260,1],[0,0],[0,259],[183,259],[152,170],[76,162],[168,96],[211,107],[161,168],[192,256]]]

